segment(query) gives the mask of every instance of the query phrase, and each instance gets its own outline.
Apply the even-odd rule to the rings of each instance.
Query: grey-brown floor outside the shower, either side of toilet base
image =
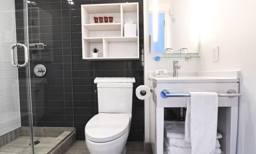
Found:
[[[85,141],[76,141],[65,154],[90,154]],[[126,154],[153,154],[151,146],[143,142],[127,142]]]

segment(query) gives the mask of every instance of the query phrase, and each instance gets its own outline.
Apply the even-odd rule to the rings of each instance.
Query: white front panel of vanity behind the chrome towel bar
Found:
[[[160,83],[153,84],[157,90],[153,99],[158,107],[186,107],[187,97],[161,97],[161,91],[166,89],[171,93],[188,94],[189,92],[216,92],[225,94],[229,89],[239,91],[239,83]],[[155,88],[154,87],[154,88]],[[238,106],[238,97],[219,97],[219,107]]]

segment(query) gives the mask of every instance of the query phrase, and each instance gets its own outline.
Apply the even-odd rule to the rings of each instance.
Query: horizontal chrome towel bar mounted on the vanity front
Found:
[[[190,97],[190,94],[171,94],[168,90],[162,90],[161,96],[167,97]],[[219,97],[240,97],[242,94],[237,93],[234,89],[229,89],[226,94],[218,94]]]

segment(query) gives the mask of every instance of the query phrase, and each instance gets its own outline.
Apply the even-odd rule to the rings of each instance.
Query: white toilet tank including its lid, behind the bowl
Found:
[[[98,91],[98,111],[132,113],[135,78],[95,78]]]

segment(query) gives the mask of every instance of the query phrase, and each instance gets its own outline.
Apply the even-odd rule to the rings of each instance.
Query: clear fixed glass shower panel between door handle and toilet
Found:
[[[31,0],[28,15],[35,151],[51,151],[74,130],[70,3]]]

